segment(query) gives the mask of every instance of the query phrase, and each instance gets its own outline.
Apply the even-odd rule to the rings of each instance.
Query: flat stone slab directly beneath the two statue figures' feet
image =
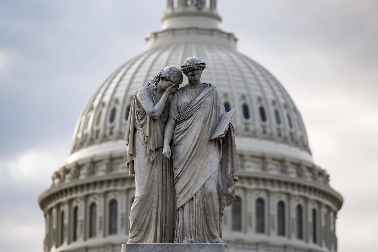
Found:
[[[122,244],[122,252],[225,252],[222,243],[136,243]]]

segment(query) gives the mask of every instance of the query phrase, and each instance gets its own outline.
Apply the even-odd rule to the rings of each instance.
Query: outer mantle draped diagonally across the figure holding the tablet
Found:
[[[177,125],[172,139],[176,208],[189,201],[218,170],[220,209],[235,199],[239,163],[230,124],[224,140],[209,141],[225,108],[214,85],[206,87],[192,103],[182,107],[183,90],[172,97],[169,114]],[[222,143],[223,141],[223,143]],[[223,212],[222,212],[223,213]]]

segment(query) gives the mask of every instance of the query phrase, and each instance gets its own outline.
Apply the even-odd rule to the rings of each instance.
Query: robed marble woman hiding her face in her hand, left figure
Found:
[[[125,131],[127,167],[135,174],[135,199],[127,243],[172,243],[174,195],[172,161],[163,156],[170,95],[183,81],[170,65],[133,97]]]

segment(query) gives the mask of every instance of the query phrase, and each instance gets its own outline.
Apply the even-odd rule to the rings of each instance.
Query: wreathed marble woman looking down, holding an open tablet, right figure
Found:
[[[234,129],[229,123],[210,141],[225,107],[216,87],[200,81],[205,68],[197,57],[185,60],[181,70],[188,83],[172,95],[165,129],[163,155],[172,156],[174,172],[175,243],[225,243],[222,216],[235,200]]]

